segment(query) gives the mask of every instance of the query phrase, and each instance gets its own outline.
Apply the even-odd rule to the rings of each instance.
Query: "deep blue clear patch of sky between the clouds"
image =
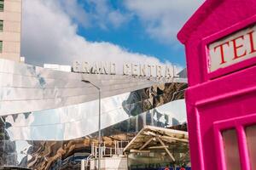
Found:
[[[87,11],[94,10],[90,3],[81,3],[81,5]],[[118,9],[121,13],[129,13],[120,1],[112,0],[109,1],[108,5],[111,8]],[[108,29],[102,29],[100,26],[89,28],[79,26],[78,33],[92,42],[112,42],[127,48],[131,52],[157,56],[162,62],[169,60],[172,63],[185,65],[183,45],[179,42],[175,42],[175,44],[164,43],[149,37],[142,21],[137,16],[131,17],[129,21],[118,28],[111,25],[108,26]]]

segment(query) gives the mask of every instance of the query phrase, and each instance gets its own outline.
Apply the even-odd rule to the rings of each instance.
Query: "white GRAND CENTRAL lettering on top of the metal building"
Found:
[[[115,63],[111,62],[73,62],[73,72],[86,74],[104,74],[116,75],[117,68]],[[141,77],[175,77],[175,66],[173,65],[139,65],[139,64],[124,64],[122,67],[123,75],[141,76]]]

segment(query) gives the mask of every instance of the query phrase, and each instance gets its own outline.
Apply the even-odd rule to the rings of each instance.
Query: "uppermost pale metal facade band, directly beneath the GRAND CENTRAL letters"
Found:
[[[178,78],[158,80],[52,71],[4,59],[0,59],[0,80],[0,116],[79,105],[97,99],[96,88],[82,80],[95,82],[102,89],[102,98],[170,81],[183,82]]]

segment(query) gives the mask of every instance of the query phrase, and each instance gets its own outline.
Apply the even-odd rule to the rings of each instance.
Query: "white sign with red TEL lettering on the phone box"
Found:
[[[209,71],[217,71],[256,56],[256,25],[237,31],[209,46]]]

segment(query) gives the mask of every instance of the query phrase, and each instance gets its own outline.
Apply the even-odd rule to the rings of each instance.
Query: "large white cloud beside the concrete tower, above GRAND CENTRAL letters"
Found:
[[[131,53],[109,42],[89,42],[79,36],[78,26],[73,20],[86,23],[87,13],[81,12],[81,16],[85,18],[79,18],[81,8],[77,3],[63,4],[61,1],[23,1],[21,54],[26,57],[28,63],[71,65],[75,59],[116,63],[160,63],[154,56]],[[68,4],[69,11],[65,8]],[[102,10],[105,10],[103,8]],[[122,19],[117,17],[113,20],[119,23],[118,20]]]

